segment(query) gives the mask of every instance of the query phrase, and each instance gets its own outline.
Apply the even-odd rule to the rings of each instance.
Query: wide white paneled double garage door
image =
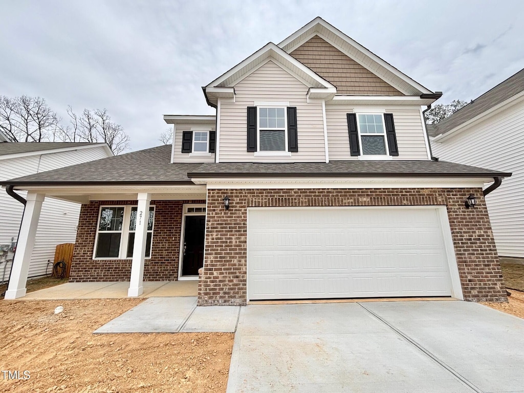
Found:
[[[439,217],[436,207],[249,209],[248,299],[451,296]]]

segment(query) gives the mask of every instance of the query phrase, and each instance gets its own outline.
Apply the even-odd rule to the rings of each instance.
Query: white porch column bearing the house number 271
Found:
[[[135,243],[133,246],[133,261],[131,263],[131,281],[129,282],[127,296],[136,297],[144,292],[144,259],[146,255],[147,222],[149,219],[150,201],[150,193],[138,193]]]

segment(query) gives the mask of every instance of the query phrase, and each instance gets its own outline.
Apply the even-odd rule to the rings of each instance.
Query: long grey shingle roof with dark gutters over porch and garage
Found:
[[[30,174],[0,184],[115,185],[192,184],[197,177],[493,177],[510,173],[445,161],[332,161],[171,163],[171,145]]]

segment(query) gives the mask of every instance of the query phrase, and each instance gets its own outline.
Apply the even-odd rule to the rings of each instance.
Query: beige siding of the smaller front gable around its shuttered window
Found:
[[[220,162],[325,162],[322,103],[307,102],[308,86],[273,61],[235,85],[235,102],[220,103]],[[247,107],[256,101],[289,102],[297,107],[298,152],[291,157],[254,157],[246,151]]]

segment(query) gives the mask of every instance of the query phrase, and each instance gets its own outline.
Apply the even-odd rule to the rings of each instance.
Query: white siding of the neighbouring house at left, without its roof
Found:
[[[50,154],[36,152],[32,156],[7,159],[2,159],[0,156],[0,180],[14,179],[105,157],[108,155],[103,147]],[[16,192],[24,198],[27,194],[25,191]],[[7,195],[5,189],[0,189],[0,245],[10,244],[12,237],[16,241],[23,211],[23,204]],[[46,198],[42,204],[28,277],[45,275],[47,260],[54,260],[56,246],[75,242],[79,215],[80,204]],[[0,279],[4,267],[4,264],[0,265]],[[6,268],[6,274],[9,269],[10,264]]]

